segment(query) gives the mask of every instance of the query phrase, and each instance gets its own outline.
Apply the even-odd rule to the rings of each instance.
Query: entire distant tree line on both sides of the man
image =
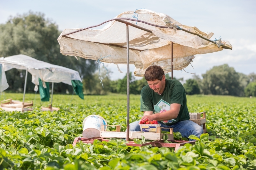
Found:
[[[100,77],[103,78],[106,72],[100,73]],[[90,82],[93,84],[93,90],[85,90],[86,94],[107,94],[112,93],[127,93],[127,74],[122,79],[110,80],[107,75],[102,83],[100,83],[98,71],[94,73]],[[169,74],[165,74],[166,79],[171,79]],[[176,79],[176,78],[174,78]],[[178,79],[183,82],[183,78]],[[85,82],[86,84],[86,82]],[[136,80],[132,73],[130,73],[130,93],[140,94],[141,89],[147,85],[145,78]],[[220,66],[214,66],[212,69],[207,70],[202,74],[202,78],[195,75],[185,81],[183,84],[186,94],[212,94],[212,95],[232,95],[232,96],[255,96],[256,97],[256,74],[251,73],[245,75],[243,73],[236,72],[233,67],[229,67],[228,64]]]

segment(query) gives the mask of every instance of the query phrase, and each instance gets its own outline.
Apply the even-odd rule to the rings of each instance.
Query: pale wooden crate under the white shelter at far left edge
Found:
[[[24,111],[32,110],[32,108],[28,108],[31,106],[33,106],[33,101],[28,101],[28,102],[23,103],[21,101],[7,99],[7,100],[1,101],[0,108],[2,108],[3,110],[6,110],[6,111],[24,112]]]

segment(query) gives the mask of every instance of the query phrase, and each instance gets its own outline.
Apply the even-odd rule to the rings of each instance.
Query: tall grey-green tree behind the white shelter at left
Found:
[[[60,54],[57,38],[60,35],[58,26],[44,18],[42,13],[29,12],[10,18],[7,23],[0,24],[0,56],[24,54],[38,60],[77,70],[84,81],[92,78],[96,65],[93,60],[64,56]],[[24,87],[25,71],[12,69],[6,72],[8,90],[17,91]],[[87,89],[92,89],[87,84]],[[27,92],[32,92],[34,85],[28,75]],[[73,91],[67,84],[54,85],[55,92]],[[20,90],[20,91],[22,91]]]

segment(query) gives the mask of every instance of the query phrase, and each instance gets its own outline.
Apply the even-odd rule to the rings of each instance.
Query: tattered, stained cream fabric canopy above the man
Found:
[[[161,66],[165,73],[172,71],[172,42],[173,70],[187,67],[196,54],[232,49],[228,41],[210,41],[213,33],[202,32],[195,26],[182,25],[163,13],[139,9],[124,12],[106,21],[108,24],[100,30],[65,29],[58,38],[60,52],[92,60],[108,56],[100,61],[127,64],[124,24],[127,21],[143,28],[138,29],[129,24],[129,61],[136,67],[135,76],[144,76],[145,70],[151,65]]]

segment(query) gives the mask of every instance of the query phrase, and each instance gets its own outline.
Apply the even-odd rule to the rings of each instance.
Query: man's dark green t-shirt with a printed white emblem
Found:
[[[161,121],[166,125],[189,120],[187,97],[183,85],[178,80],[165,79],[163,94],[158,94],[149,85],[142,88],[140,94],[140,111],[162,113],[171,109],[172,103],[180,104],[180,112],[176,119]]]

